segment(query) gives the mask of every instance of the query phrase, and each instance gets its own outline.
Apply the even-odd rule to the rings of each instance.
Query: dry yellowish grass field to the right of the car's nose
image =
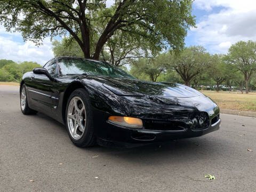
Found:
[[[203,91],[205,95],[218,103],[221,109],[256,111],[256,93]]]

